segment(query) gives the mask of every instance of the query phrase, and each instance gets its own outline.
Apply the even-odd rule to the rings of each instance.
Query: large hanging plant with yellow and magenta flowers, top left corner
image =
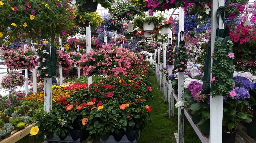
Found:
[[[67,8],[72,9],[66,0],[4,0],[0,10],[1,37],[8,37],[8,41],[36,41],[39,35],[52,39],[57,35],[67,37],[73,23],[72,12]]]

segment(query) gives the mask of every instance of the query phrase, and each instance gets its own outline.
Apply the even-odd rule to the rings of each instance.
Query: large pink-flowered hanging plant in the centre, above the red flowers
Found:
[[[126,74],[131,65],[139,64],[138,57],[125,48],[103,45],[97,51],[84,54],[81,57],[79,66],[84,75],[91,76],[99,73],[104,75]]]

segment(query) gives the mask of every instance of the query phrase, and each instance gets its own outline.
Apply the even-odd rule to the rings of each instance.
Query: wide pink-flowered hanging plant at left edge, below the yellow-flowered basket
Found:
[[[4,65],[7,65],[10,69],[34,69],[37,66],[38,58],[35,52],[29,47],[26,46],[19,47],[18,49],[8,49],[7,47],[1,47],[2,58],[4,59]]]

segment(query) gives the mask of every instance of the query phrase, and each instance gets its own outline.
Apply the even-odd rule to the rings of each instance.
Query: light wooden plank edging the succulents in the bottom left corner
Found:
[[[12,132],[12,135],[8,138],[5,138],[5,139],[1,140],[1,143],[15,143],[15,142],[17,142],[18,140],[24,138],[26,135],[30,134],[30,130],[34,126],[35,126],[35,123],[26,126],[25,129],[19,130],[18,132],[17,132],[17,130],[14,130]]]

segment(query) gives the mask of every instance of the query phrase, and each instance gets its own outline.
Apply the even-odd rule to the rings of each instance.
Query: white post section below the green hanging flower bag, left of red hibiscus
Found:
[[[52,110],[52,78],[44,78],[43,83],[44,111],[50,112]]]

